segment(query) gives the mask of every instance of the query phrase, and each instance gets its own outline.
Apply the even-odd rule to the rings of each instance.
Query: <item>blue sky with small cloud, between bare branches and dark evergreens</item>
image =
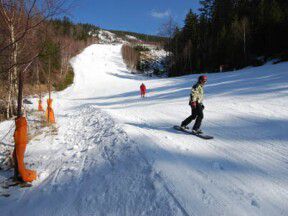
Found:
[[[179,25],[188,10],[197,11],[198,0],[79,0],[70,10],[74,22],[91,23],[104,29],[157,34],[168,16]]]

